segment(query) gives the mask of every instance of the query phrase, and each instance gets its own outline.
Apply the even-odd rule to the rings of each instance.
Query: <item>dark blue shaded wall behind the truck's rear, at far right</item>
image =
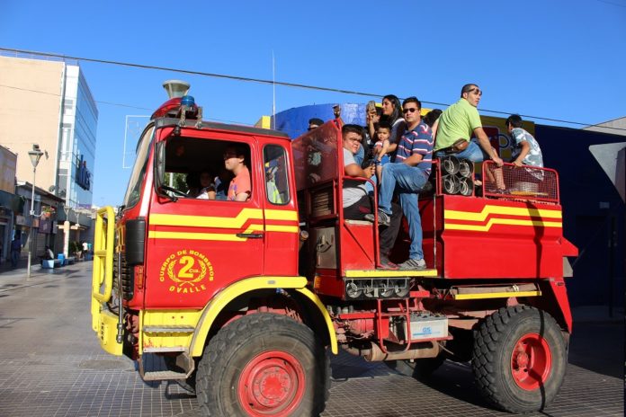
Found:
[[[574,277],[567,281],[570,303],[623,306],[626,208],[589,146],[626,142],[626,137],[541,125],[535,133],[544,165],[559,172],[563,234],[578,247]],[[609,247],[612,238],[615,245]]]

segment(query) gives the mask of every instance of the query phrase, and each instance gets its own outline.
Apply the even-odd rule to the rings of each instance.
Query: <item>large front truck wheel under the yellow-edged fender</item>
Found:
[[[330,387],[326,350],[304,324],[284,315],[246,315],[204,350],[196,375],[203,415],[317,415]]]

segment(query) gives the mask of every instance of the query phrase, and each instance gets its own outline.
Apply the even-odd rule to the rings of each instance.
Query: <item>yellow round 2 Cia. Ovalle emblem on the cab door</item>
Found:
[[[174,285],[168,288],[170,292],[201,292],[207,289],[202,281],[206,278],[213,280],[213,265],[203,253],[194,250],[178,251],[167,256],[161,264],[159,280],[164,282],[165,277],[174,281]]]

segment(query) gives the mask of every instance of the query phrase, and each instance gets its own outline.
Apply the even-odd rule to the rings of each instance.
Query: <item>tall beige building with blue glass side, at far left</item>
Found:
[[[89,210],[93,201],[98,110],[82,68],[77,62],[3,53],[0,74],[0,145],[16,156],[13,193],[24,202],[21,209],[13,208],[13,220],[31,217],[13,221],[11,232],[24,235],[32,225],[37,229],[34,235],[39,236],[43,224],[47,234],[58,235],[58,224],[67,218],[76,231],[71,239],[85,240],[81,232],[91,227],[91,217],[78,213]],[[29,152],[36,149],[42,155],[33,170]],[[32,194],[35,199],[31,203]],[[57,206],[54,216],[53,206]],[[4,234],[10,241],[9,232]],[[36,247],[40,240],[54,242],[56,252],[62,252],[63,239],[49,235],[37,239]],[[5,246],[4,239],[6,236],[0,235]]]

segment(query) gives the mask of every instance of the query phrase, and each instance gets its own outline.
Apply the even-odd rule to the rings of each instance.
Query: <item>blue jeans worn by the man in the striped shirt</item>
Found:
[[[400,205],[408,222],[408,235],[411,246],[408,256],[411,259],[424,258],[422,252],[422,218],[419,216],[418,193],[422,191],[428,177],[419,168],[407,164],[386,164],[382,167],[379,208],[389,216],[393,192],[398,191]]]

